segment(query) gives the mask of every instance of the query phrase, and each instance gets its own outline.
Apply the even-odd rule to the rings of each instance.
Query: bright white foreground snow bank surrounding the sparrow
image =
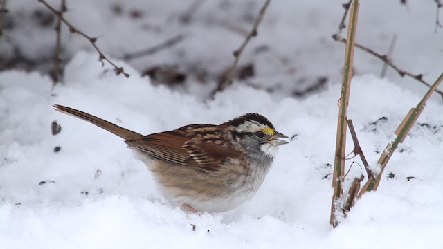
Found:
[[[392,156],[388,172],[395,178],[383,178],[379,190],[365,194],[333,229],[331,180],[324,177],[332,172],[327,163],[334,158],[339,84],[305,100],[273,100],[264,91],[235,86],[203,103],[136,74],[122,82],[112,71],[103,73],[89,53],[75,55],[65,77],[63,85],[51,89],[51,80],[38,73],[0,74],[2,248],[443,246],[441,102],[428,102],[418,120],[428,125],[416,125],[399,147],[403,152]],[[392,82],[354,77],[349,117],[371,165],[418,101],[418,95]],[[297,136],[280,147],[251,201],[230,212],[198,216],[165,201],[120,138],[53,111],[52,104],[140,133],[193,122],[217,124],[256,111],[280,132]],[[382,116],[388,120],[372,124]],[[55,136],[53,120],[62,127]],[[61,147],[57,153],[56,146]],[[354,165],[354,171],[363,169]],[[408,181],[408,176],[415,178]]]

